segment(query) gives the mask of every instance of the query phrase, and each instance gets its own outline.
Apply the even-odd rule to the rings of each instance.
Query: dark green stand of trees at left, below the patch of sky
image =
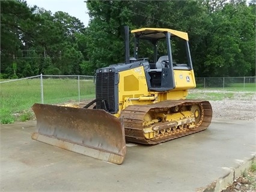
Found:
[[[1,73],[12,77],[13,62],[19,77],[43,74],[80,74],[84,55],[76,34],[84,33],[80,20],[67,13],[25,1],[1,1]]]

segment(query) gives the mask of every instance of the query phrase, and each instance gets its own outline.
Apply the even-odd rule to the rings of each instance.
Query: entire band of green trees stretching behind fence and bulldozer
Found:
[[[76,17],[1,1],[1,77],[94,74],[124,62],[124,26],[170,28],[189,34],[197,77],[255,74],[255,0],[87,1],[87,28]],[[130,35],[130,52],[133,49]],[[150,43],[139,57],[153,58]],[[159,56],[165,54],[159,43]],[[174,44],[172,51],[181,51]],[[182,58],[178,58],[182,60]],[[13,63],[16,63],[14,67]],[[4,75],[3,75],[4,74]]]

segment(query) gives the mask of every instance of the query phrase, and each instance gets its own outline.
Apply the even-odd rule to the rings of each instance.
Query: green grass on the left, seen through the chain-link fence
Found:
[[[77,79],[43,79],[44,104],[78,101]],[[41,103],[40,79],[0,83],[0,122],[26,121],[32,118],[34,103]],[[80,80],[80,100],[95,98],[93,80]]]

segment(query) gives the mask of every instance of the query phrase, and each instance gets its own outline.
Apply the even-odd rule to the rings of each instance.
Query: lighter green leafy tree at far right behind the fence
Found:
[[[212,9],[211,9],[212,10]],[[251,75],[255,53],[255,20],[246,1],[222,4],[210,13],[212,25],[207,34],[201,76]],[[249,56],[248,56],[249,53]]]

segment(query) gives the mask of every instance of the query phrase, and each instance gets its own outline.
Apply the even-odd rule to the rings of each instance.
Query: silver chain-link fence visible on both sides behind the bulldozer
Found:
[[[196,78],[197,89],[256,92],[256,77]],[[0,82],[0,121],[12,122],[34,103],[76,103],[95,98],[93,76],[39,75]],[[5,120],[3,120],[5,119]]]

